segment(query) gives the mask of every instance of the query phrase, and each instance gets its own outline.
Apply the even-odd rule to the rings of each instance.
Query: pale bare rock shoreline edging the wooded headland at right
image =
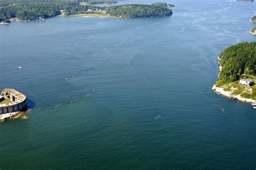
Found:
[[[219,63],[219,71],[221,71],[222,66],[220,65],[220,57],[219,56],[218,56],[218,63]],[[219,72],[219,74],[220,74],[220,72]],[[219,77],[219,74],[218,74],[218,77]],[[256,103],[256,100],[253,100],[252,98],[244,98],[244,97],[241,97],[240,95],[233,95],[232,91],[225,91],[224,88],[216,87],[216,84],[217,84],[217,82],[215,82],[215,84],[213,85],[212,90],[221,96],[225,96],[227,98],[232,98],[232,99],[238,100],[240,102]]]

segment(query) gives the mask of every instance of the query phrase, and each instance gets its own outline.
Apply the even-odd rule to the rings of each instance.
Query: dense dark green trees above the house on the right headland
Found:
[[[232,82],[239,80],[242,74],[256,75],[256,42],[241,42],[220,53],[222,69],[219,81]]]

